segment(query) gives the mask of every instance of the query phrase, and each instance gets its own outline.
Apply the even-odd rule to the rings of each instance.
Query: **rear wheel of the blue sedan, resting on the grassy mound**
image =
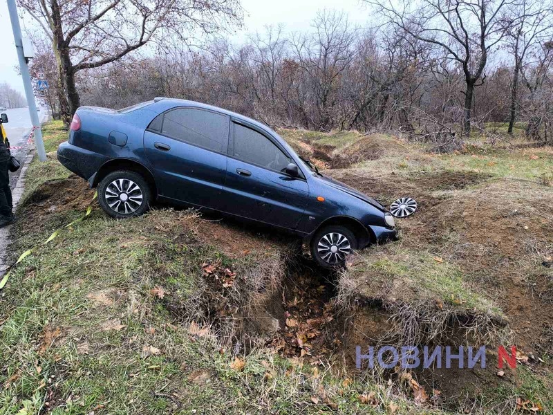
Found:
[[[98,202],[115,219],[140,216],[150,208],[151,189],[139,173],[118,170],[100,181]]]

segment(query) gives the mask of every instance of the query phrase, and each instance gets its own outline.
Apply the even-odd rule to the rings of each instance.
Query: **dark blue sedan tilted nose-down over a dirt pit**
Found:
[[[80,107],[57,157],[118,219],[156,200],[217,210],[299,235],[325,267],[397,238],[380,203],[320,174],[267,126],[199,102]]]

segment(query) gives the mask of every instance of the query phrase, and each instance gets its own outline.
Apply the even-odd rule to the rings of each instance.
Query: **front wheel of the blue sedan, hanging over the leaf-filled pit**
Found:
[[[311,256],[323,268],[340,268],[357,249],[355,234],[341,225],[328,225],[317,230],[310,243]],[[335,251],[335,252],[332,252]]]

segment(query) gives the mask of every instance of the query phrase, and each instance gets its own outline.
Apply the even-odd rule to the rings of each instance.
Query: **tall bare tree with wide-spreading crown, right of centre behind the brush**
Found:
[[[364,0],[388,23],[422,42],[438,46],[465,74],[464,131],[471,133],[474,89],[485,80],[488,55],[512,25],[509,0]]]

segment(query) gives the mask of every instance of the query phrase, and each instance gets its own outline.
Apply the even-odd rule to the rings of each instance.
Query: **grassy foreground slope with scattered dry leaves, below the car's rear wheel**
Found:
[[[65,139],[55,124],[46,131],[49,150]],[[51,158],[35,160],[28,174],[17,252],[84,212],[70,206],[28,228],[23,222],[36,220],[29,212],[44,204],[32,205],[37,191],[67,173]],[[231,350],[167,304],[197,293],[205,261],[221,261],[240,277],[259,258],[228,257],[200,241],[193,223],[171,210],[113,221],[94,204],[86,221],[39,245],[0,299],[0,414],[376,413],[389,405],[419,412],[391,388],[344,382],[268,350],[232,365]],[[164,298],[160,285],[170,292]],[[358,398],[369,391],[376,406]]]

